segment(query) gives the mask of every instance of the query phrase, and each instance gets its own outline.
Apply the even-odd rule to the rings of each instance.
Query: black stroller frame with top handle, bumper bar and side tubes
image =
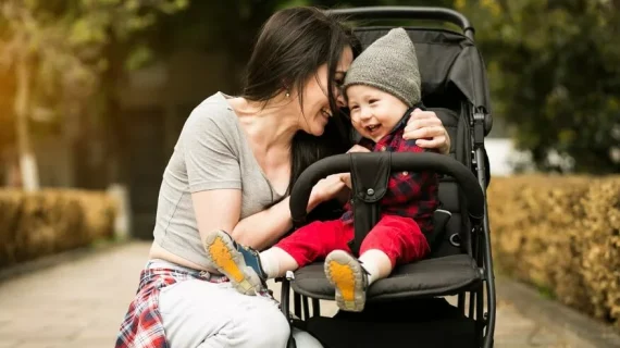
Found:
[[[327,12],[347,16],[349,20],[385,18],[449,22],[459,26],[462,30],[462,35],[473,42],[474,28],[470,24],[469,20],[461,13],[450,9],[426,7],[368,7],[328,10]],[[486,84],[486,80],[483,83]],[[337,154],[323,159],[308,167],[296,183],[290,195],[293,220],[295,225],[299,227],[306,223],[306,202],[308,201],[312,186],[320,178],[330,174],[350,171],[351,175],[356,175],[354,174],[356,163],[358,167],[361,167],[362,163],[376,165],[380,170],[382,167],[387,167],[387,173],[389,173],[389,170],[414,171],[423,169],[434,170],[438,173],[454,177],[467,197],[468,212],[470,215],[469,219],[471,222],[470,250],[471,257],[475,260],[475,264],[478,265],[478,272],[480,272],[480,284],[473,288],[463,289],[449,295],[458,295],[458,310],[462,314],[467,314],[469,319],[475,318],[475,321],[481,324],[480,332],[476,332],[476,335],[480,346],[484,348],[491,348],[494,346],[493,337],[496,321],[495,276],[493,271],[489,239],[491,232],[486,204],[486,187],[488,185],[489,174],[486,151],[484,148],[484,137],[491,132],[493,125],[488,109],[487,100],[485,100],[485,102],[473,102],[467,108],[463,108],[463,112],[466,113],[464,117],[469,121],[469,134],[471,134],[471,165],[469,167],[448,156],[436,153],[383,152]],[[358,182],[360,182],[359,178]],[[354,187],[352,190],[356,192],[356,187]],[[376,223],[376,212],[379,208],[376,203],[365,203],[364,209],[367,209],[365,212],[368,212],[368,215],[360,217],[359,215],[361,214],[356,213],[355,219],[365,220],[365,222],[362,222],[361,224],[365,225],[365,228],[369,229],[374,225],[374,223]],[[357,238],[358,228],[356,227],[356,239]],[[452,240],[450,239],[450,243],[451,241]],[[289,322],[293,322],[289,296],[292,283],[295,282],[296,273],[289,272],[286,277],[276,279],[276,282],[282,282],[281,308]],[[466,297],[468,293],[469,308],[466,311]],[[308,294],[299,294],[299,291],[294,291],[293,295],[293,310],[296,316],[302,320],[308,320],[311,316],[320,314],[321,307],[319,299],[325,299],[324,297],[312,297]],[[427,297],[433,297],[434,294],[426,295]],[[425,296],[418,296],[418,298],[420,297],[424,298]],[[388,297],[385,298],[387,299]],[[312,303],[312,315],[310,315],[309,300]],[[486,312],[483,307],[485,300]],[[289,340],[288,347],[295,347],[294,339]]]

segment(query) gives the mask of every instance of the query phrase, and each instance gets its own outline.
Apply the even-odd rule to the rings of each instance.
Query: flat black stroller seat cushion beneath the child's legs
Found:
[[[424,259],[397,266],[389,277],[376,281],[368,289],[367,301],[449,296],[472,290],[481,281],[478,264],[468,254]],[[322,262],[297,271],[290,287],[295,293],[311,298],[334,299],[334,287],[325,277]]]

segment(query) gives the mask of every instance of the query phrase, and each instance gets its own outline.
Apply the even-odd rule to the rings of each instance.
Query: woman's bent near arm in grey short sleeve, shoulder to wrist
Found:
[[[237,125],[227,111],[206,104],[195,109],[182,130],[188,189],[200,239],[223,229],[237,241],[261,248],[290,228],[288,199],[247,219],[241,215],[241,171]]]

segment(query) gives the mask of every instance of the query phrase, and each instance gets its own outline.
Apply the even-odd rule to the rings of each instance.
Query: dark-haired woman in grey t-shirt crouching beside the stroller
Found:
[[[292,228],[287,194],[299,174],[352,145],[338,86],[358,48],[336,18],[282,10],[260,33],[243,96],[218,92],[191,112],[163,175],[154,241],[116,347],[285,347],[290,331],[277,302],[232,288],[209,268],[201,238],[224,229],[263,249]],[[414,112],[404,137],[449,149],[432,112]],[[308,211],[344,190],[339,176],[324,178]],[[298,347],[309,340],[294,335]]]

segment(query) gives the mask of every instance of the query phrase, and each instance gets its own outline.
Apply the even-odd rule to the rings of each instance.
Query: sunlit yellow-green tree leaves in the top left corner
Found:
[[[0,4],[0,58],[9,71],[26,61],[34,76],[30,108],[63,109],[99,92],[106,50],[174,13],[188,0],[5,0]],[[149,58],[138,46],[129,67]]]

